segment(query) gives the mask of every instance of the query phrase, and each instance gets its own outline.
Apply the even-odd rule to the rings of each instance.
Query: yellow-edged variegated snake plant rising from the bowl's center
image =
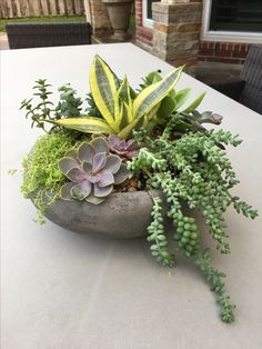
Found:
[[[172,70],[162,80],[133,96],[127,77],[120,81],[97,54],[90,70],[90,89],[102,118],[87,116],[53,122],[85,133],[117,134],[127,139],[134,128],[147,127],[155,116],[161,101],[179,81],[182,69],[183,67]]]

